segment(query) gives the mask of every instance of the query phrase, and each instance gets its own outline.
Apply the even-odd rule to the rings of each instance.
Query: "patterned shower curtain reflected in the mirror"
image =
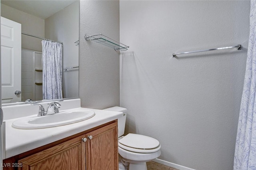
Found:
[[[42,40],[43,99],[62,99],[62,44]]]

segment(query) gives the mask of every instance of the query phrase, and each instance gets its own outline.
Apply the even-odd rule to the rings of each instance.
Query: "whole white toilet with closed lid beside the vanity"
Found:
[[[118,111],[123,117],[118,119],[118,153],[119,170],[147,170],[146,162],[160,156],[161,145],[158,140],[141,134],[124,134],[127,109],[122,107],[110,107],[106,111]],[[122,163],[121,163],[122,162]]]

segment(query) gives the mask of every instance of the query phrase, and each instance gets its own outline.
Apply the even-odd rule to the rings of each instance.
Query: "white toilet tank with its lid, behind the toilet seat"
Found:
[[[115,106],[115,107],[110,107],[110,108],[103,109],[103,110],[116,111],[116,112],[123,113],[123,117],[117,119],[117,121],[118,121],[118,138],[119,138],[120,136],[122,136],[124,134],[127,109],[125,109],[123,107]]]

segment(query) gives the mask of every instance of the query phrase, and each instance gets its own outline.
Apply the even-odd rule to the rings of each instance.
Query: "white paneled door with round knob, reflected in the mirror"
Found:
[[[1,17],[2,103],[21,101],[21,24]]]

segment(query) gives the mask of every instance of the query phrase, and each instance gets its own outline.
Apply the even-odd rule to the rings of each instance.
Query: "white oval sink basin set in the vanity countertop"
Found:
[[[32,115],[22,117],[12,123],[12,127],[21,129],[49,128],[68,125],[90,119],[95,115],[94,111],[84,108],[69,109],[60,111],[53,115],[40,116]]]

